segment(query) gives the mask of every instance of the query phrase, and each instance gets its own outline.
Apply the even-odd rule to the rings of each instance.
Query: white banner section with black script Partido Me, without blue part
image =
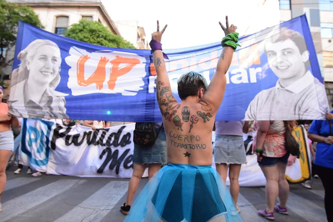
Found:
[[[50,174],[80,177],[132,176],[135,124],[106,129],[57,126],[47,165]]]

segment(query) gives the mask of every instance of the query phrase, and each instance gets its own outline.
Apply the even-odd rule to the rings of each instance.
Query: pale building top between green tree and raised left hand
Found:
[[[131,42],[137,49],[150,49],[145,29],[138,24],[137,20],[116,21],[120,34],[125,40]]]

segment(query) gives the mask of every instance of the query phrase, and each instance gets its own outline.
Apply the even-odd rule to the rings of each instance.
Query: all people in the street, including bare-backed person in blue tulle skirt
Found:
[[[242,221],[237,198],[241,165],[246,163],[243,133],[252,131],[253,128],[253,146],[266,179],[266,208],[257,213],[269,220],[274,220],[274,212],[288,215],[289,184],[285,171],[287,165],[293,164],[297,157],[290,155],[285,141],[288,131],[292,132],[297,123],[277,120],[214,121],[225,91],[225,73],[238,41],[236,26],[229,26],[227,18],[226,27],[221,23],[220,25],[226,37],[222,40],[223,50],[209,87],[201,74],[184,74],[177,82],[181,99],[181,103],[178,103],[169,90],[170,83],[163,59],[166,55],[162,54],[161,38],[166,26],[160,31],[157,23],[157,31],[152,34],[151,48],[157,72],[157,100],[163,123],[154,124],[157,138],[153,145],[143,146],[136,143],[134,146],[133,174],[126,202],[120,208],[121,212],[127,215],[125,221]],[[0,88],[0,100],[2,97],[3,89]],[[306,127],[311,140],[309,144],[316,143],[316,151],[314,146],[311,146],[315,169],[313,172],[323,183],[327,219],[333,221],[333,111],[326,114],[326,119],[314,120]],[[100,120],[55,122],[66,126],[80,124],[92,129],[124,124]],[[252,124],[253,127],[250,127]],[[19,128],[19,125],[19,119],[8,114],[8,104],[1,102],[0,201],[6,185],[5,170],[8,160],[13,156],[16,158],[15,163],[19,164],[17,153],[21,141],[20,133],[16,133],[14,139],[12,131],[12,127]],[[214,125],[216,140],[212,144]],[[211,168],[213,158],[216,171]],[[18,167],[15,173],[22,171],[23,166]],[[147,167],[149,182],[133,201]],[[32,172],[30,168],[28,172]],[[36,172],[32,175],[41,174]],[[227,176],[230,180],[230,191],[225,187]],[[311,188],[309,182],[303,186]],[[275,204],[277,197],[279,203]]]

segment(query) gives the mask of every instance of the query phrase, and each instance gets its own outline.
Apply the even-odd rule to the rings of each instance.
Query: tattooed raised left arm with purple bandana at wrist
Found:
[[[159,21],[157,21],[157,31],[152,33],[152,41],[155,40],[161,43],[162,34],[166,30],[166,26],[164,26],[162,31],[160,31],[160,24]],[[152,48],[152,50],[154,49]],[[176,105],[175,103],[177,103],[177,100],[174,98],[171,92],[169,77],[166,72],[162,50],[158,49],[153,52],[153,60],[157,73],[156,96],[162,113],[162,118],[171,118],[170,113],[172,113],[172,105]]]

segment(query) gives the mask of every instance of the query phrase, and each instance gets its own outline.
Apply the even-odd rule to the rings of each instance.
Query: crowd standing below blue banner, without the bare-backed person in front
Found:
[[[0,95],[1,95],[0,91]],[[2,106],[6,106],[6,103],[1,103]],[[5,110],[5,109],[2,109]],[[0,121],[1,129],[3,132],[9,131],[10,133],[1,133],[1,150],[4,152],[5,143],[8,147],[11,147],[13,140],[13,150],[7,150],[5,152],[9,160],[14,160],[14,166],[18,166],[18,169],[14,171],[15,174],[21,173],[23,165],[19,163],[18,153],[19,144],[21,141],[21,118],[7,117],[8,120]],[[333,120],[333,114],[328,113],[327,119]],[[9,122],[8,122],[9,121]],[[117,126],[127,124],[129,122],[111,122],[111,121],[82,121],[82,120],[53,120],[57,124],[74,126],[83,125],[91,127],[92,129],[102,129],[110,126]],[[333,136],[329,132],[328,124],[325,121],[300,121],[304,124],[305,129],[308,131],[308,145],[310,147],[311,163],[312,163],[312,175],[317,178],[319,174],[323,181],[325,188],[325,207],[330,214],[330,207],[332,207],[332,200],[330,200],[329,187],[332,181],[329,177],[330,169],[333,169],[329,163],[331,163],[330,156],[326,154],[329,149],[327,145],[333,144]],[[328,121],[327,121],[328,122]],[[8,125],[10,123],[10,125]],[[18,124],[18,125],[17,125]],[[250,127],[250,125],[252,127]],[[246,163],[246,154],[244,147],[243,134],[247,134],[249,131],[253,131],[254,128],[255,137],[253,146],[256,150],[263,150],[262,155],[258,154],[258,163],[266,178],[266,202],[267,208],[258,211],[258,214],[262,215],[267,219],[274,219],[273,212],[282,214],[288,214],[286,208],[289,184],[285,178],[285,170],[287,165],[292,165],[295,162],[296,156],[289,155],[284,143],[285,143],[285,130],[292,131],[296,127],[296,121],[216,121],[215,122],[215,142],[214,147],[214,161],[216,171],[219,173],[224,183],[226,182],[227,176],[230,180],[230,194],[235,203],[237,212],[240,212],[237,206],[237,197],[239,193],[239,173],[241,165]],[[11,126],[10,128],[8,126]],[[148,167],[148,178],[150,179],[155,173],[161,169],[167,163],[166,158],[166,134],[162,123],[154,124],[156,131],[158,132],[158,139],[153,146],[140,147],[140,145],[134,145],[134,156],[133,156],[133,175],[130,179],[126,203],[121,206],[121,211],[127,215],[130,211],[133,197],[138,189],[139,182],[144,174],[145,169]],[[311,126],[311,127],[310,127]],[[324,127],[324,128],[323,128]],[[8,130],[9,129],[9,130]],[[12,132],[11,132],[12,131]],[[325,134],[326,133],[326,134]],[[6,135],[9,134],[9,135]],[[325,137],[326,135],[326,137]],[[5,139],[7,138],[7,139]],[[325,145],[326,144],[326,145]],[[316,155],[315,146],[319,147],[319,154]],[[326,146],[326,147],[325,147]],[[317,150],[316,149],[316,150]],[[9,152],[10,151],[10,152]],[[329,151],[329,150],[328,150]],[[2,155],[4,156],[4,155]],[[316,157],[316,158],[315,158]],[[318,158],[318,159],[317,159]],[[314,161],[317,160],[316,164]],[[2,169],[5,169],[7,162],[2,161]],[[317,170],[318,169],[318,170]],[[0,171],[1,172],[1,171]],[[28,166],[27,174],[32,176],[40,176],[41,172],[37,171],[32,173],[32,169]],[[1,177],[1,188],[4,189],[5,185],[5,173]],[[311,180],[307,180],[302,185],[308,189],[311,189]],[[1,196],[0,196],[1,197]],[[279,197],[279,204],[275,205],[276,199]],[[330,216],[332,217],[332,216]]]

